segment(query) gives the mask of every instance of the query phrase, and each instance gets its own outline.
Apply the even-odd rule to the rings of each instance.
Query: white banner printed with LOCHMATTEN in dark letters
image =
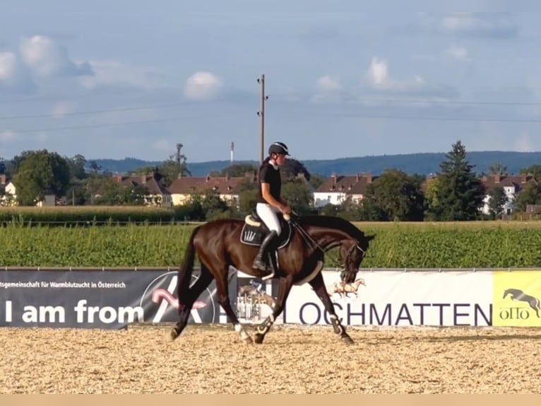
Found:
[[[343,287],[333,287],[340,282],[339,272],[323,271],[323,279],[344,325],[492,325],[489,271],[359,272],[357,280],[363,279],[364,284],[345,286],[349,297]],[[309,284],[293,286],[283,323],[329,324],[323,303]]]

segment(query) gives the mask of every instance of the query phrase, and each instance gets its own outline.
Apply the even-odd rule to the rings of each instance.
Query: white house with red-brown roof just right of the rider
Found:
[[[314,206],[341,204],[347,197],[351,197],[352,202],[358,203],[364,196],[367,185],[376,178],[371,174],[347,176],[333,174],[314,190]]]

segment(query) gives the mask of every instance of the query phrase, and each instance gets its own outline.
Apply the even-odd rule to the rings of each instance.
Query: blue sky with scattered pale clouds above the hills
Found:
[[[541,6],[429,5],[2,0],[0,156],[540,151]]]

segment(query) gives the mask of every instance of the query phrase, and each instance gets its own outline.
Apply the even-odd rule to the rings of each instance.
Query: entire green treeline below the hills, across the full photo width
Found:
[[[257,166],[235,164],[209,175],[243,176],[256,175]],[[494,163],[491,173],[507,175],[505,166]],[[541,204],[541,166],[523,168],[529,175],[521,193],[509,198],[503,187],[487,190],[481,176],[468,161],[465,146],[457,141],[452,144],[440,170],[432,178],[408,174],[403,170],[389,168],[373,182],[367,184],[363,198],[354,202],[350,197],[340,204],[314,206],[314,190],[325,180],[321,175],[311,174],[304,164],[295,159],[281,168],[283,196],[298,214],[326,214],[341,216],[350,221],[471,221],[499,219],[504,216],[506,204],[513,205],[513,213],[524,213],[529,204]],[[114,174],[100,168],[97,163],[87,162],[81,155],[67,158],[58,153],[23,151],[11,161],[0,159],[0,174],[13,178],[20,206],[34,206],[47,194],[54,194],[66,205],[143,206],[148,204],[145,185],[124,185],[114,179]],[[182,144],[160,166],[138,168],[131,175],[151,173],[163,187],[168,187],[179,175],[190,176]],[[172,209],[175,219],[206,221],[234,217],[242,218],[256,205],[257,183],[242,183],[239,198],[234,202],[220,199],[218,192],[207,190],[192,195],[189,202]],[[2,195],[0,190],[0,195]],[[489,196],[489,213],[483,214],[484,199]],[[347,195],[346,195],[347,196]],[[6,204],[6,199],[4,199]]]

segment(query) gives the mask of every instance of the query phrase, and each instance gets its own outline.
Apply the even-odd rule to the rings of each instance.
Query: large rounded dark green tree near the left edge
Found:
[[[56,152],[30,151],[18,163],[18,173],[13,178],[20,205],[33,206],[46,194],[64,195],[69,186],[69,163]]]

